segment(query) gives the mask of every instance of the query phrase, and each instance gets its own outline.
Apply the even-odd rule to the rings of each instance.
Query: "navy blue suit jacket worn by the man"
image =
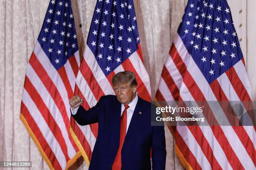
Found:
[[[121,103],[115,95],[102,96],[89,110],[79,106],[72,115],[79,125],[98,122],[98,136],[90,170],[111,170],[119,147]],[[122,170],[164,170],[166,160],[163,126],[151,126],[151,103],[138,97],[121,151]]]

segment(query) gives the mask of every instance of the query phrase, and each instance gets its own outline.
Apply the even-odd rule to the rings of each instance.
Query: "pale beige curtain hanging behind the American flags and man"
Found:
[[[162,67],[187,0],[133,2],[145,66],[151,78],[151,91],[154,97]],[[96,0],[72,0],[81,55],[95,3]],[[35,170],[49,168],[19,119],[20,101],[28,59],[41,30],[48,5],[49,0],[0,1],[0,161],[30,160],[32,169]],[[240,22],[236,21],[236,18],[233,20],[235,23]],[[174,154],[174,140],[168,130],[166,146],[166,169],[183,169]],[[82,158],[72,168],[88,169]]]

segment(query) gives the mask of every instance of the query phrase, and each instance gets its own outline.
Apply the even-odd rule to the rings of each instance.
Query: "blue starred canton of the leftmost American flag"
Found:
[[[56,70],[78,50],[70,0],[50,1],[38,42]]]

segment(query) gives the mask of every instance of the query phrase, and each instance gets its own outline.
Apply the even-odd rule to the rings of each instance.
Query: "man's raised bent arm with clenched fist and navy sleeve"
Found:
[[[77,123],[82,126],[98,122],[99,115],[103,112],[103,105],[102,105],[101,98],[99,102],[97,102],[97,104],[94,107],[90,108],[89,110],[85,110],[84,107],[80,106],[82,102],[83,102],[83,99],[80,99],[79,96],[74,96],[69,100],[72,117],[74,117]],[[76,112],[72,112],[72,110]]]

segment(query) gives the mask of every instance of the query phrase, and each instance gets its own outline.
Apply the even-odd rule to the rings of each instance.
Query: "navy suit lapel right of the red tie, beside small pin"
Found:
[[[141,98],[138,97],[138,102],[136,104],[136,107],[133,111],[133,116],[131,118],[131,122],[130,122],[130,125],[128,127],[128,131],[126,133],[126,136],[125,136],[125,141],[124,141],[124,144],[130,140],[130,138],[133,136],[134,132],[137,130],[138,128],[138,125],[140,124],[140,120],[141,120]],[[140,113],[139,113],[140,112]]]

